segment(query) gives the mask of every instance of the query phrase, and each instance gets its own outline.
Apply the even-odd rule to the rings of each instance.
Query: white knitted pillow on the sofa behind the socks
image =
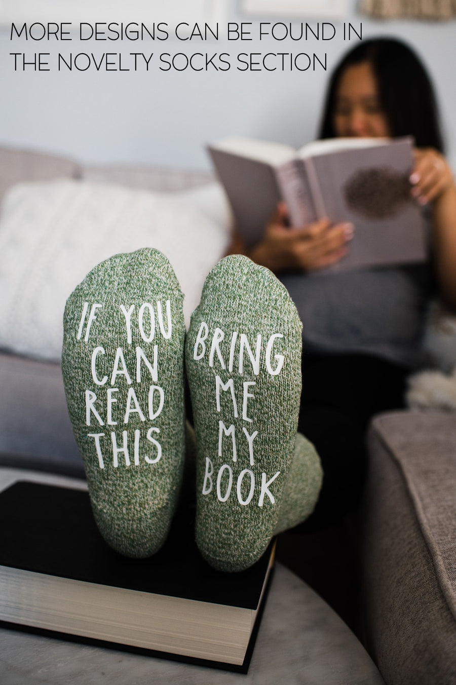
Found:
[[[0,215],[0,347],[59,360],[73,288],[102,260],[140,247],[170,260],[188,323],[229,221],[216,184],[172,194],[72,180],[14,186]]]

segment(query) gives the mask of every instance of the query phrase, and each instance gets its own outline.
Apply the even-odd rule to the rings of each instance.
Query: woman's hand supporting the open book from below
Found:
[[[288,226],[286,204],[280,202],[271,217],[262,242],[249,256],[257,264],[280,271],[315,271],[338,262],[347,253],[347,242],[353,238],[353,224],[331,225],[320,219],[300,228]]]

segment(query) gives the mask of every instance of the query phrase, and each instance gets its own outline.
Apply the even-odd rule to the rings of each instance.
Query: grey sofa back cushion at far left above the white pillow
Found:
[[[73,160],[31,150],[0,147],[0,201],[17,183],[78,178],[81,167]]]

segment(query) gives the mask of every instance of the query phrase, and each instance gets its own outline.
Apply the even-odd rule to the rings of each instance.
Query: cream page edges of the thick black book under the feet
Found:
[[[0,566],[0,598],[2,621],[237,665],[257,614],[9,566]]]

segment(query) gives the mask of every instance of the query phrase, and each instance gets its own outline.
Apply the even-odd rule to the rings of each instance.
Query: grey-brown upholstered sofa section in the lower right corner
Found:
[[[388,684],[456,682],[456,421],[394,412],[370,430],[367,646]]]

